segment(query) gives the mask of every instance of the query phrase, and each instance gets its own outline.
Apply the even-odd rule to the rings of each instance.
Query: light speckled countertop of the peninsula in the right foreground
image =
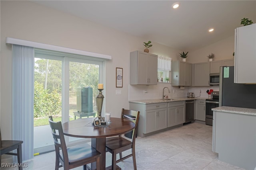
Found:
[[[221,106],[221,107],[212,108],[212,111],[222,111],[222,112],[228,112],[228,113],[237,113],[237,114],[256,116],[256,109],[243,108],[243,107]]]

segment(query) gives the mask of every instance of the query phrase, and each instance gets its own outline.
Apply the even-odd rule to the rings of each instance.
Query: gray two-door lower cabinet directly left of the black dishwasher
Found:
[[[185,123],[185,102],[168,103],[168,127]]]

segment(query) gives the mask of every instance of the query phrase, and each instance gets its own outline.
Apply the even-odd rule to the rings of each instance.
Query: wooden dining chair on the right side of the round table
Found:
[[[139,122],[139,111],[122,109],[121,119],[128,119],[135,123],[135,128],[132,131],[131,141],[123,138],[121,135],[116,137],[106,138],[106,151],[112,154],[112,170],[116,169],[116,164],[132,156],[134,170],[137,170],[135,157],[135,139]],[[129,135],[127,136],[129,137]],[[122,152],[132,149],[132,153],[122,158]],[[116,160],[116,154],[120,155],[120,159]]]

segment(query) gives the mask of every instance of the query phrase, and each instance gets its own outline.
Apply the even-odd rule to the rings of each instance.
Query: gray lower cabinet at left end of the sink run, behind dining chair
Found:
[[[139,137],[144,137],[144,134],[167,128],[167,102],[155,104],[130,102],[130,109],[140,111],[137,132]]]

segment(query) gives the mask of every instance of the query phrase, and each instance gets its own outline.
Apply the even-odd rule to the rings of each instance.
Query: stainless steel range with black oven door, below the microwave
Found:
[[[206,109],[205,109],[205,124],[212,126],[212,108],[219,107],[219,96],[218,91],[212,92],[212,99],[206,99]]]

